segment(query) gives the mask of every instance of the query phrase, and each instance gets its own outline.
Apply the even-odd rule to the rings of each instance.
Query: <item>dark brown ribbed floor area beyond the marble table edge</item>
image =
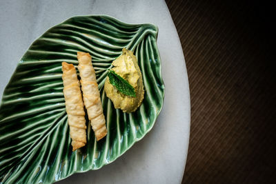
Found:
[[[276,183],[273,3],[166,3],[190,83],[182,183]]]

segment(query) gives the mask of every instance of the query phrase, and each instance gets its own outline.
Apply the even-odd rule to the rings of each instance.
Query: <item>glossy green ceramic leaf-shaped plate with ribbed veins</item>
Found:
[[[139,62],[145,96],[127,114],[116,110],[103,84],[122,48]],[[108,134],[72,152],[63,98],[61,62],[77,65],[77,51],[89,52],[97,74]],[[115,161],[150,131],[164,101],[157,27],[128,24],[105,15],[72,17],[34,41],[17,65],[0,108],[0,183],[53,183],[75,172]]]

